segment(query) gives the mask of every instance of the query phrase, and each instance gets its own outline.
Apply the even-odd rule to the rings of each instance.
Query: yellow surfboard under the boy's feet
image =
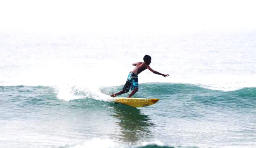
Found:
[[[113,100],[113,102],[121,103],[121,104],[132,106],[132,107],[146,107],[149,105],[153,105],[159,101],[159,99],[154,99],[154,98],[115,97],[111,99]]]

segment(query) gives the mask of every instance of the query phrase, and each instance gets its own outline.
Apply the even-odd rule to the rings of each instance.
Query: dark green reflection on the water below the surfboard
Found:
[[[116,122],[120,126],[123,142],[136,143],[140,138],[147,138],[152,135],[150,127],[154,126],[148,115],[141,113],[140,109],[114,104],[112,117],[118,119]]]

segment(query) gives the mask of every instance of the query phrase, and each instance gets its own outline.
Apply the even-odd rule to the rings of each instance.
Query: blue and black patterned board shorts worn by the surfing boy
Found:
[[[125,92],[128,92],[131,88],[131,90],[135,88],[139,88],[139,82],[138,82],[138,76],[132,72],[129,73],[126,83],[123,86],[123,90]]]

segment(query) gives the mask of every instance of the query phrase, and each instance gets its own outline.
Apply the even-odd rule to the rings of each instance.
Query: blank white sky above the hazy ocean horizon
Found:
[[[0,0],[0,30],[256,28],[249,0]]]

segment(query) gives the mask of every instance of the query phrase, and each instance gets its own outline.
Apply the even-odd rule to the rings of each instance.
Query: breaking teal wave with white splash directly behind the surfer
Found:
[[[77,85],[61,85],[61,86],[0,86],[0,91],[26,91],[34,89],[48,89],[49,93],[54,92],[56,98],[64,101],[91,98],[95,100],[107,101],[112,93],[122,90],[123,86],[114,87],[81,87]],[[130,94],[120,95],[126,97]],[[201,98],[211,98],[215,101],[223,100],[256,100],[256,87],[241,88],[234,91],[220,91],[204,88],[195,84],[181,83],[142,83],[139,85],[139,91],[133,96],[135,98],[168,98],[178,95],[194,97],[195,100]]]

